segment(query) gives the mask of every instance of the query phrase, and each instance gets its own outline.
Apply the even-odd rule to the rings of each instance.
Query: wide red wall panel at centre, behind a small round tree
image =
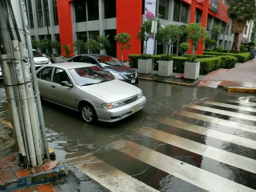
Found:
[[[116,34],[129,33],[130,50],[124,50],[124,60],[128,60],[129,54],[140,54],[140,42],[136,38],[140,25],[142,24],[142,0],[116,0]],[[121,51],[117,44],[117,59],[121,59]]]

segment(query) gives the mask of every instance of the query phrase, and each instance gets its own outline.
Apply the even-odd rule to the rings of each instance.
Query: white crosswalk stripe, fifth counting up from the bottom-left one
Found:
[[[211,122],[214,124],[219,124],[222,126],[231,127],[234,129],[239,129],[239,130],[243,130],[243,131],[256,133],[256,127],[252,126],[252,125],[237,123],[234,121],[228,121],[228,120],[219,119],[216,117],[210,117],[207,115],[201,115],[201,114],[197,114],[197,113],[192,113],[192,112],[188,112],[188,111],[178,112],[177,114],[185,116],[185,117],[190,117],[190,118],[194,118],[194,119],[198,119],[198,120],[202,120],[202,121]],[[215,127],[212,126],[212,128],[215,128]]]

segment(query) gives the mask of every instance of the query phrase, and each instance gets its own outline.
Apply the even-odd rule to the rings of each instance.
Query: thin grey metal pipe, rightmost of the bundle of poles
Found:
[[[44,125],[44,115],[43,115],[42,104],[41,104],[41,99],[40,99],[40,95],[39,95],[39,88],[38,88],[38,82],[37,82],[37,77],[36,77],[36,68],[35,68],[34,56],[33,56],[33,51],[32,51],[31,39],[30,39],[28,18],[27,18],[27,14],[26,14],[26,9],[24,9],[24,7],[25,7],[24,0],[20,0],[22,23],[24,26],[24,31],[25,31],[25,36],[26,36],[26,44],[27,44],[27,48],[28,48],[30,70],[31,70],[31,74],[32,74],[34,91],[35,91],[35,95],[36,95],[35,96],[36,97],[36,106],[37,106],[37,110],[38,110],[38,116],[39,116],[41,132],[42,132],[42,137],[43,137],[43,142],[44,142],[44,151],[45,151],[46,158],[50,160],[48,141],[47,141],[46,130],[45,130],[45,125]]]

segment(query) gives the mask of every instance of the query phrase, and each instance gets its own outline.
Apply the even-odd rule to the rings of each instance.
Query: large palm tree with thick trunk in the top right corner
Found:
[[[237,50],[238,36],[244,32],[246,22],[254,20],[256,7],[255,0],[231,0],[228,8],[228,17],[232,19],[232,33],[234,33],[234,42],[232,50]]]

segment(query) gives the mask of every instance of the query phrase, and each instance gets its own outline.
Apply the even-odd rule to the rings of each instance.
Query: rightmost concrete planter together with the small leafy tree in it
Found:
[[[199,78],[200,62],[195,62],[196,44],[204,43],[207,32],[200,23],[190,23],[186,26],[185,32],[192,45],[192,54],[188,57],[188,62],[184,66],[184,78],[196,80]]]

